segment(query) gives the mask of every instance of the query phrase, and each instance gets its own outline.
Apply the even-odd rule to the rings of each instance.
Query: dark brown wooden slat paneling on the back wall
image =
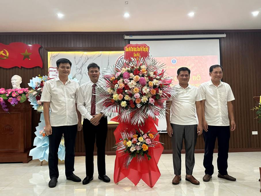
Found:
[[[0,68],[0,87],[11,88],[10,79],[14,74],[23,78],[22,87],[28,87],[27,83],[32,77],[47,74],[47,50],[73,49],[83,51],[104,48],[120,47],[128,43],[123,39],[123,35],[169,35],[169,34],[198,34],[198,33],[226,33],[225,38],[221,38],[222,65],[224,68],[223,81],[230,84],[235,101],[234,112],[237,129],[231,132],[230,151],[257,151],[261,150],[261,125],[257,123],[255,112],[251,111],[256,104],[253,96],[261,95],[261,30],[243,31],[165,31],[165,32],[60,32],[60,33],[0,33],[0,42],[9,44],[21,41],[26,44],[39,43],[42,45],[39,53],[43,60],[43,68]],[[32,141],[34,138],[35,126],[39,122],[39,114],[32,113]],[[252,131],[258,131],[258,135],[252,135]],[[111,153],[114,136],[113,127],[108,129],[108,140],[106,151]],[[114,141],[115,142],[115,141]],[[171,152],[171,140],[165,133],[161,134],[161,142],[164,143],[166,152]],[[217,148],[217,144],[215,146]],[[204,149],[203,136],[197,139],[196,151],[202,152]],[[216,150],[215,150],[216,151]],[[78,132],[76,143],[76,154],[84,154],[84,142],[82,132]]]

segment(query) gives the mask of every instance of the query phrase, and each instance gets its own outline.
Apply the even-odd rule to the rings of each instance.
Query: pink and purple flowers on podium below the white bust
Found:
[[[7,105],[4,100],[7,100],[12,106],[26,101],[26,93],[28,88],[4,89],[0,88],[0,104],[3,111],[8,112]]]

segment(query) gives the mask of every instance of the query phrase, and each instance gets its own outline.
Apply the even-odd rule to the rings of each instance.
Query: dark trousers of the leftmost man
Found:
[[[77,125],[71,126],[59,126],[52,127],[52,134],[49,135],[49,156],[48,156],[48,165],[49,165],[49,176],[52,179],[53,177],[59,177],[58,171],[58,149],[62,139],[62,134],[64,134],[64,146],[65,146],[65,175],[71,176],[74,171],[74,147],[75,147],[75,138],[77,134]]]

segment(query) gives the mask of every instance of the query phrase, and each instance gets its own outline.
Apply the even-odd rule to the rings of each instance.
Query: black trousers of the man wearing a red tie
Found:
[[[105,144],[107,138],[108,122],[106,117],[100,119],[100,123],[94,126],[88,119],[83,120],[83,138],[85,143],[85,167],[86,176],[92,177],[94,173],[93,151],[96,140],[97,166],[99,176],[106,174],[105,170]]]

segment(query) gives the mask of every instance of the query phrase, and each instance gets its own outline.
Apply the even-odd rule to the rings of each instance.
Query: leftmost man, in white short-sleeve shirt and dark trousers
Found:
[[[67,180],[81,182],[73,174],[74,147],[77,130],[82,130],[81,114],[77,110],[77,97],[79,84],[68,78],[72,63],[66,58],[56,61],[59,76],[48,80],[43,86],[41,101],[43,102],[43,115],[45,132],[49,137],[49,187],[56,187],[59,176],[58,149],[64,135],[65,145],[65,175]]]

